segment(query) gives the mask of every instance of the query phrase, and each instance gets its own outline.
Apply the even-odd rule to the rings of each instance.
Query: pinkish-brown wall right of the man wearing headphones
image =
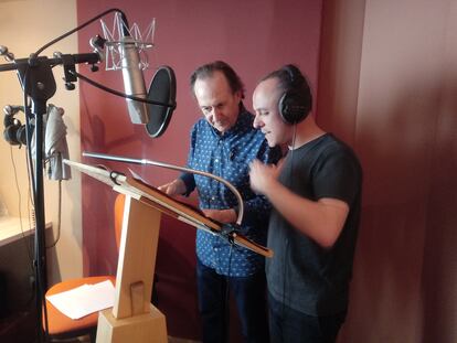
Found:
[[[329,0],[319,124],[364,169],[339,342],[457,342],[457,3]]]

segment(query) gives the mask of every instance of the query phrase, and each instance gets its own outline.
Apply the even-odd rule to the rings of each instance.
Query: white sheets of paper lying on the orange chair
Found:
[[[109,280],[95,285],[83,285],[75,289],[49,296],[46,299],[71,319],[110,308],[114,306],[115,287]]]

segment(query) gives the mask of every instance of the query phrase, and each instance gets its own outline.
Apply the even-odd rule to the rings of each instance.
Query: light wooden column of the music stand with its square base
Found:
[[[98,315],[97,343],[167,342],[164,315],[151,303],[161,213],[126,196],[113,310]]]

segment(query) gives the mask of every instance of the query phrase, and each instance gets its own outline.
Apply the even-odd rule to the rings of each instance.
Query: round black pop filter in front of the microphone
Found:
[[[149,121],[146,124],[146,131],[156,138],[164,132],[177,107],[177,79],[171,67],[164,65],[156,72],[149,85],[148,100],[163,104],[148,105]]]

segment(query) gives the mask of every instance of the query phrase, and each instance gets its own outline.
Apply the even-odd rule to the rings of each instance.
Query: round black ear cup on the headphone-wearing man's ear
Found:
[[[295,125],[305,120],[310,111],[308,99],[297,92],[287,90],[279,99],[279,114],[286,124]]]

